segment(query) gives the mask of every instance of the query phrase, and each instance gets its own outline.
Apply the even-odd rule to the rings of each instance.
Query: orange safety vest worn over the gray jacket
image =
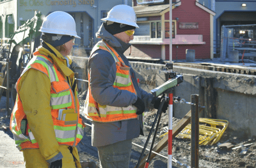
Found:
[[[133,86],[130,74],[130,67],[124,64],[124,61],[118,55],[118,53],[106,43],[106,41],[99,41],[91,52],[92,54],[96,50],[106,50],[115,59],[116,63],[116,78],[113,83],[114,88],[118,88],[120,90],[128,90],[136,94],[136,90]],[[88,71],[88,81],[90,83],[90,73]],[[88,94],[86,96],[84,112],[87,118],[95,121],[95,122],[115,122],[120,120],[129,120],[132,118],[137,118],[136,115],[137,108],[135,106],[128,107],[115,107],[108,106],[104,104],[99,104],[92,97],[91,87],[88,85]]]

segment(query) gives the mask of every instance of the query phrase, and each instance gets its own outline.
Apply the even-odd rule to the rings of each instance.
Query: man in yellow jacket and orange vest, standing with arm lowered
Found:
[[[40,46],[17,81],[10,129],[26,167],[81,167],[76,148],[83,120],[68,58],[79,38],[74,18],[63,11],[48,15]]]

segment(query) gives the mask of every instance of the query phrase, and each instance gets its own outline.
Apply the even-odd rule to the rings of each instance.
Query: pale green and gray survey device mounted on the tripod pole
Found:
[[[159,95],[163,94],[163,92],[165,92],[169,88],[176,87],[179,83],[182,83],[182,81],[183,81],[183,76],[178,74],[174,78],[172,78],[172,79],[166,81],[165,83],[163,83],[162,85],[160,85],[159,87],[150,90],[150,92],[155,97],[158,97]]]

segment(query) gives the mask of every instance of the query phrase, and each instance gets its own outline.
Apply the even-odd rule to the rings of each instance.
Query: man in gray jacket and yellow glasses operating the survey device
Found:
[[[132,139],[143,135],[143,111],[159,108],[161,99],[142,90],[124,55],[131,45],[136,14],[131,6],[114,6],[96,33],[101,38],[88,62],[84,113],[92,120],[92,146],[100,167],[129,167]],[[168,108],[164,103],[163,111]]]

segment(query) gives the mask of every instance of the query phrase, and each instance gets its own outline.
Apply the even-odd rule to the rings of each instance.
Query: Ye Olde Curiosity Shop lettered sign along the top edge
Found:
[[[76,7],[77,4],[90,4],[91,6],[94,4],[94,0],[61,0],[61,1],[52,1],[52,0],[20,0],[20,6],[53,6],[53,5],[72,5]]]

